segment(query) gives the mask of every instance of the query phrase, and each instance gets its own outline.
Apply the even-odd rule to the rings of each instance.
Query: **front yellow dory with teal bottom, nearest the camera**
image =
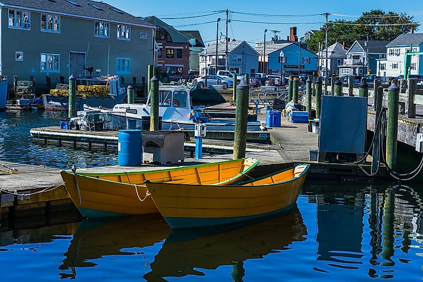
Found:
[[[154,203],[172,229],[197,228],[270,216],[295,206],[309,165],[240,185],[145,182]]]

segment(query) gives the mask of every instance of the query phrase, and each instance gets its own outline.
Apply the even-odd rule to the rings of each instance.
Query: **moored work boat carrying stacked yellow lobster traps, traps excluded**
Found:
[[[77,78],[78,87],[80,86],[107,86],[108,90],[105,95],[88,96],[85,94],[79,95],[77,91],[76,109],[83,111],[84,105],[92,107],[113,108],[116,104],[121,104],[126,98],[125,87],[120,86],[118,76],[105,76],[93,78]],[[55,90],[58,94],[56,95]],[[64,93],[62,93],[63,90]],[[69,88],[66,89],[53,89],[55,95],[45,94],[42,96],[44,108],[48,111],[67,111],[69,107]],[[95,94],[95,93],[94,93]]]

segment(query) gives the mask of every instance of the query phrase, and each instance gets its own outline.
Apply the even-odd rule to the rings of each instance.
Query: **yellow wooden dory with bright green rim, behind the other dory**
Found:
[[[147,196],[146,180],[232,185],[244,181],[257,164],[256,159],[247,158],[140,172],[83,174],[63,170],[61,174],[72,201],[84,217],[124,216],[159,212]]]

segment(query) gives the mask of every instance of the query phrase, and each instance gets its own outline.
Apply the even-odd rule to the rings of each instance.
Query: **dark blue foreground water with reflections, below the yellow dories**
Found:
[[[423,277],[417,186],[306,181],[298,209],[172,232],[160,214],[0,227],[2,281],[364,281]]]

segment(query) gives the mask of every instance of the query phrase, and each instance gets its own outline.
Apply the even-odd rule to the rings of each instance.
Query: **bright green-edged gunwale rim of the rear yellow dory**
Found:
[[[94,176],[120,176],[120,175],[136,175],[136,174],[149,174],[149,173],[159,173],[159,172],[169,172],[169,171],[177,171],[177,170],[183,170],[183,169],[187,169],[187,168],[199,168],[199,167],[205,167],[205,166],[211,166],[211,165],[220,165],[220,164],[225,164],[225,163],[234,163],[237,161],[246,161],[246,160],[251,160],[253,163],[244,171],[238,173],[237,175],[226,179],[225,181],[221,181],[221,182],[217,182],[215,184],[211,184],[212,186],[217,186],[220,184],[224,184],[227,183],[233,179],[239,178],[241,176],[245,176],[245,174],[247,172],[250,172],[250,170],[254,169],[258,164],[259,161],[255,158],[241,158],[241,159],[235,159],[235,160],[228,160],[228,161],[220,161],[220,162],[215,162],[215,163],[205,163],[205,164],[199,164],[199,165],[193,165],[193,166],[179,166],[179,167],[174,167],[174,168],[167,168],[167,169],[157,169],[157,170],[146,170],[146,171],[133,171],[133,172],[117,172],[117,173],[76,173],[77,176],[80,177],[86,177],[86,178],[90,178],[90,179],[95,179],[95,180],[100,180],[100,181],[106,181],[106,182],[112,182],[112,183],[119,183],[119,184],[123,184],[123,185],[129,185],[129,186],[145,186],[145,184],[130,184],[130,183],[125,183],[125,182],[118,182],[118,181],[113,181],[113,180],[109,180],[109,179],[102,179],[102,178],[97,178]],[[70,174],[70,175],[74,175],[74,173],[72,173],[71,171],[67,171],[67,170],[61,170],[60,173],[66,173],[66,174]],[[154,183],[163,183],[163,182],[154,182]],[[226,185],[227,186],[227,185]]]

